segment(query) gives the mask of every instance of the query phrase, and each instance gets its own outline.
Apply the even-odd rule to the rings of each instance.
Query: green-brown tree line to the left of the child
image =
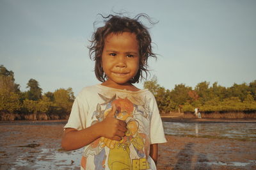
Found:
[[[27,91],[20,91],[14,73],[0,66],[0,120],[67,119],[74,102],[72,88],[42,94],[38,81],[29,79]]]

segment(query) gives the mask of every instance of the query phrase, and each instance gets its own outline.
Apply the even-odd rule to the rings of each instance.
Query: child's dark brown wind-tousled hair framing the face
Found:
[[[101,15],[102,16],[102,15]],[[102,16],[103,17],[103,16]],[[110,33],[123,33],[129,32],[134,33],[138,40],[140,63],[139,70],[137,74],[129,81],[130,83],[139,82],[140,79],[146,79],[148,73],[148,57],[156,58],[156,54],[152,52],[151,37],[148,33],[147,27],[143,26],[138,20],[140,17],[146,18],[150,24],[154,24],[146,14],[138,14],[133,19],[128,17],[122,17],[120,15],[108,15],[108,17],[103,17],[105,25],[103,27],[98,27],[97,31],[92,35],[91,45],[88,46],[90,58],[95,61],[95,75],[100,82],[106,81],[107,77],[102,69],[102,51],[104,49],[104,42],[106,36]],[[142,73],[145,72],[144,77]]]

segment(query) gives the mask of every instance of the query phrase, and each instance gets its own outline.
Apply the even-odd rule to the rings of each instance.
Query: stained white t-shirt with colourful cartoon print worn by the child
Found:
[[[127,91],[100,84],[83,88],[64,128],[82,130],[102,121],[116,105],[116,118],[127,123],[121,141],[100,137],[84,146],[81,169],[156,169],[150,144],[166,143],[154,95],[148,89]]]

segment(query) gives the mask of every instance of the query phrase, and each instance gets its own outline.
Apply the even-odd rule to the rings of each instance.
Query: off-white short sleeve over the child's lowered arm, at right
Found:
[[[150,120],[150,144],[166,143],[166,139],[164,137],[163,123],[154,96],[153,99],[152,117]]]

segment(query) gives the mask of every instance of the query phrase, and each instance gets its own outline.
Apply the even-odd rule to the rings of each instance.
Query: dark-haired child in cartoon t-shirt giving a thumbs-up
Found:
[[[85,146],[81,169],[156,169],[157,144],[166,142],[162,121],[152,93],[132,84],[156,57],[141,16],[109,15],[93,34],[90,57],[102,84],[76,97],[61,143],[65,150]]]

